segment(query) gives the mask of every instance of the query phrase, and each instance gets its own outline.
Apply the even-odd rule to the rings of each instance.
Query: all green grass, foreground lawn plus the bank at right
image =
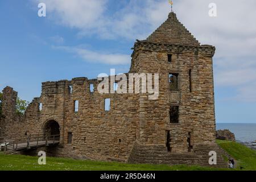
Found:
[[[236,142],[217,140],[217,143],[240,162],[245,170],[256,170],[256,151]],[[168,166],[151,164],[124,164],[116,162],[96,162],[91,160],[73,160],[63,158],[46,158],[46,165],[38,164],[38,157],[24,155],[4,155],[0,152],[0,170],[32,171],[213,171],[228,170],[199,166]]]

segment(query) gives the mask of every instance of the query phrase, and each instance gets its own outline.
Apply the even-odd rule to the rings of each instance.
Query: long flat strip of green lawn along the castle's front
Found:
[[[38,157],[24,155],[4,155],[0,153],[0,170],[26,171],[205,171],[214,168],[200,166],[168,166],[152,164],[125,164],[117,162],[97,162],[92,160],[74,160],[46,158],[46,165],[38,164]]]

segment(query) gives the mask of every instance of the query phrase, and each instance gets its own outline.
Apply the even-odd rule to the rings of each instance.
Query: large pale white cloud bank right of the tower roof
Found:
[[[217,18],[208,16],[210,2]],[[180,21],[202,44],[216,46],[214,76],[219,88],[234,88],[233,100],[256,102],[256,1],[179,1]],[[187,13],[182,13],[187,12]]]

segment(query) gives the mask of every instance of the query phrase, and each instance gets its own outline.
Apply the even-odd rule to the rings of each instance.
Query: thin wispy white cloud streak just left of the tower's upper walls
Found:
[[[103,63],[103,64],[129,64],[130,55],[124,55],[119,53],[100,53],[95,51],[90,51],[88,49],[79,48],[79,47],[67,47],[67,46],[52,46],[56,49],[61,49],[75,55],[80,56],[85,61],[90,61],[92,63]]]

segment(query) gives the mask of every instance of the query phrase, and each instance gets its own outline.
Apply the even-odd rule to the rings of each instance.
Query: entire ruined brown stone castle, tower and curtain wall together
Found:
[[[215,143],[213,55],[175,13],[134,44],[129,73],[159,73],[159,97],[100,94],[86,77],[43,82],[42,94],[15,114],[17,93],[3,90],[1,136],[60,134],[55,156],[129,163],[209,165]],[[110,100],[110,108],[105,102]],[[40,109],[42,106],[42,109]],[[218,154],[218,152],[217,152]],[[218,155],[218,166],[223,164]]]

